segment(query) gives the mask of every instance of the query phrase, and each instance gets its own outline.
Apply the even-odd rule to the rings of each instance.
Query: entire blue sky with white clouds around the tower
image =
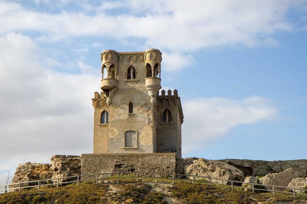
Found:
[[[0,1],[0,184],[92,152],[102,50],[162,51],[183,157],[307,159],[306,1]]]

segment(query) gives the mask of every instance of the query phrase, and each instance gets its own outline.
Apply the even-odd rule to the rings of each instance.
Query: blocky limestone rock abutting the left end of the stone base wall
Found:
[[[51,170],[52,178],[60,178],[67,176],[77,176],[81,172],[81,157],[80,156],[66,156],[66,155],[53,155],[51,158]],[[59,182],[66,182],[76,180],[71,179],[60,179]],[[53,181],[56,183],[56,181]]]

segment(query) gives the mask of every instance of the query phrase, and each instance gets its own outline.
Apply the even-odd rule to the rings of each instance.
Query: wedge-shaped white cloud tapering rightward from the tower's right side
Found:
[[[226,135],[241,124],[271,120],[277,114],[270,100],[258,96],[242,100],[192,98],[183,101],[182,108],[185,117],[182,125],[183,153],[200,150],[208,140]]]

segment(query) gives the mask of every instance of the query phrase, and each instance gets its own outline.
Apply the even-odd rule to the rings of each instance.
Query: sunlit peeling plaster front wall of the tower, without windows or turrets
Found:
[[[133,66],[137,72],[138,81],[125,81],[127,69]],[[139,58],[127,62],[126,56],[122,62],[117,61],[117,90],[112,103],[107,108],[97,105],[94,117],[94,153],[153,153],[155,144],[155,105],[150,103],[150,96],[144,88],[146,78],[145,62]],[[133,113],[128,114],[129,103],[133,103]],[[104,102],[105,103],[105,102]],[[109,122],[98,125],[103,109],[108,109]],[[137,132],[137,147],[125,147],[125,131]]]

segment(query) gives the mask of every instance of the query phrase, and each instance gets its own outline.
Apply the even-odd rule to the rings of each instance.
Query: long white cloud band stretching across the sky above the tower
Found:
[[[31,11],[17,3],[1,2],[0,33],[37,31],[42,33],[38,37],[42,40],[108,36],[124,42],[134,37],[145,39],[149,48],[158,47],[173,53],[223,45],[258,46],[266,42],[272,45],[274,33],[295,29],[287,19],[287,11],[303,3],[287,0],[155,1],[154,4],[128,1],[116,5],[104,2],[101,6],[117,8],[122,4],[130,5],[127,7],[130,13],[87,15],[64,10],[51,14]]]

